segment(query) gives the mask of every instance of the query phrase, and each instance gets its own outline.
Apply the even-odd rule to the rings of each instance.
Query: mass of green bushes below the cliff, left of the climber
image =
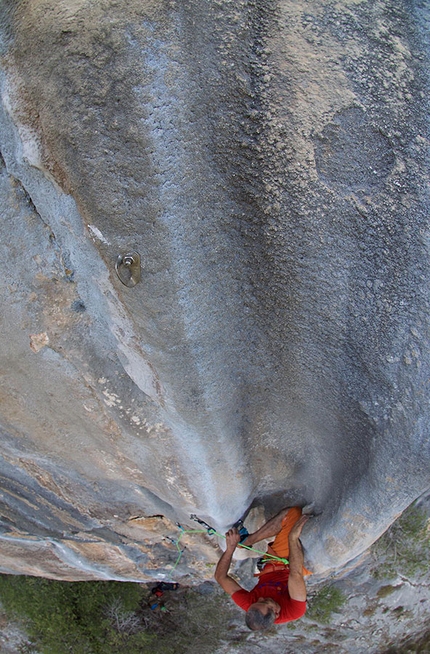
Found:
[[[24,620],[34,649],[43,654],[215,651],[236,612],[215,587],[205,595],[168,591],[151,610],[154,596],[143,584],[12,575],[0,575],[0,601],[10,617]]]

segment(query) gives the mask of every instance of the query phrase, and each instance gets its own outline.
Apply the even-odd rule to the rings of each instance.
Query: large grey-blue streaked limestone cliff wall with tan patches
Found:
[[[315,502],[323,573],[430,486],[429,18],[3,2],[2,571],[162,577],[190,513]]]

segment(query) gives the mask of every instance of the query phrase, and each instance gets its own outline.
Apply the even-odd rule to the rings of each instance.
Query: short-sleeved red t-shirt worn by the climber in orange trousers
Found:
[[[298,620],[306,613],[306,602],[293,600],[288,592],[289,569],[283,568],[279,572],[268,572],[260,575],[258,584],[251,591],[237,590],[231,596],[241,609],[247,611],[251,604],[258,602],[260,597],[271,597],[281,607],[279,618],[275,620],[276,624],[280,622],[291,622]]]

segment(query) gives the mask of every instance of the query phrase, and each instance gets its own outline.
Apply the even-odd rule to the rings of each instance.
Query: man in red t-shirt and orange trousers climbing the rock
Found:
[[[301,618],[306,611],[306,585],[303,567],[303,548],[300,534],[309,519],[299,507],[285,508],[260,529],[242,541],[247,547],[265,538],[275,540],[269,544],[267,554],[276,558],[265,560],[259,581],[251,591],[244,590],[229,576],[240,534],[236,527],[226,533],[227,547],[215,570],[215,580],[232,600],[244,609],[246,624],[253,631],[268,629],[273,623],[290,622]],[[289,563],[280,561],[288,559]]]

